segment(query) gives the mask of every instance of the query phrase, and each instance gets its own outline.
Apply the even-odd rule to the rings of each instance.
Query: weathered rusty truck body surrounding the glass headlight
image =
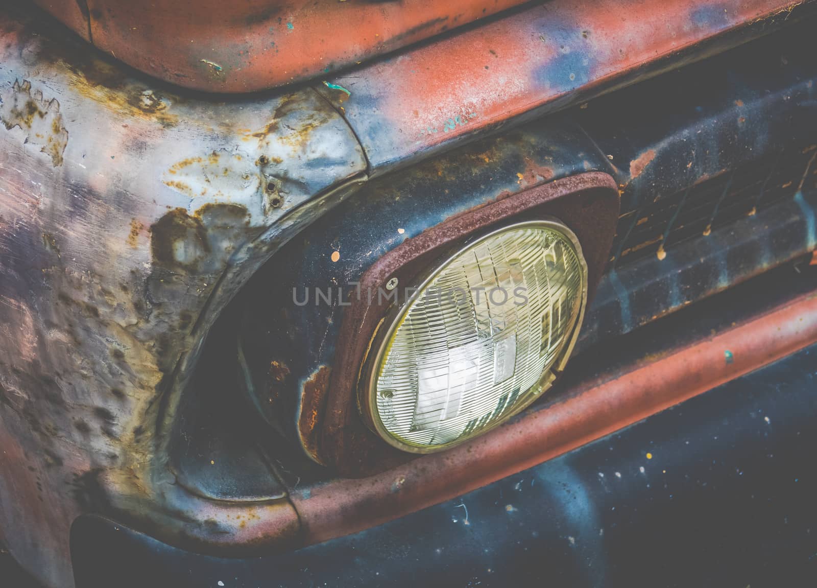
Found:
[[[35,3],[0,16],[0,540],[45,585],[718,584],[690,536],[761,508],[723,496],[817,521],[766,462],[815,445],[814,2]],[[564,375],[384,442],[386,310],[344,289],[538,214],[587,261]]]

